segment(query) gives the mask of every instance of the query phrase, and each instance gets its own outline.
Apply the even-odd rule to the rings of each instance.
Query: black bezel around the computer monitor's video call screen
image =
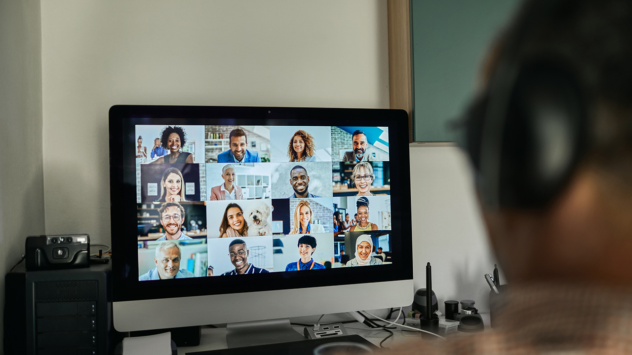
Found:
[[[306,121],[309,123],[306,124]],[[241,282],[235,282],[235,276],[212,277],[211,282],[206,277],[158,281],[138,281],[137,278],[126,277],[130,273],[134,275],[138,272],[137,241],[128,242],[121,235],[130,233],[116,231],[121,229],[121,220],[123,220],[123,231],[137,230],[136,186],[135,182],[130,183],[132,170],[135,174],[134,146],[130,142],[136,141],[136,124],[387,126],[391,169],[392,234],[399,233],[400,236],[406,236],[392,238],[392,248],[400,255],[399,262],[362,268],[362,270],[332,268],[311,270],[309,274],[294,271],[240,275]],[[394,139],[395,137],[398,139]],[[413,279],[410,153],[406,111],[310,107],[114,105],[109,111],[109,142],[113,301],[303,289]],[[123,162],[134,162],[134,164],[125,165],[121,159]],[[131,202],[132,196],[133,202]],[[396,210],[393,206],[400,208]],[[396,223],[398,220],[399,224]],[[135,236],[135,234],[131,235]],[[130,263],[131,260],[135,263]],[[244,289],[245,282],[247,282],[247,289]],[[176,294],[174,290],[177,290]]]

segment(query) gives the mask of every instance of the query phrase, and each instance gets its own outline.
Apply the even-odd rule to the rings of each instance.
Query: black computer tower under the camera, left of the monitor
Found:
[[[111,299],[107,265],[5,276],[4,353],[107,355]]]

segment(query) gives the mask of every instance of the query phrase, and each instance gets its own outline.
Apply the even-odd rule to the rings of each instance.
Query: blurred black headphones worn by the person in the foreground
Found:
[[[528,54],[525,34],[568,1],[540,1],[504,42],[487,90],[466,112],[461,146],[488,208],[544,208],[561,193],[588,146],[580,80],[554,57]]]

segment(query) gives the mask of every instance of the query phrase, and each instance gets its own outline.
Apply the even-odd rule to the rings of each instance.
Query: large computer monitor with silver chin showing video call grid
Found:
[[[117,330],[411,304],[405,111],[115,105],[109,140]]]

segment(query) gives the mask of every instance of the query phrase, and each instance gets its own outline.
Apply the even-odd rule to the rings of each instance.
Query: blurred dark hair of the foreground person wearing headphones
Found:
[[[632,178],[631,23],[629,0],[526,1],[483,68],[491,77],[508,55],[545,59],[572,73],[587,112],[585,161],[626,186]]]

